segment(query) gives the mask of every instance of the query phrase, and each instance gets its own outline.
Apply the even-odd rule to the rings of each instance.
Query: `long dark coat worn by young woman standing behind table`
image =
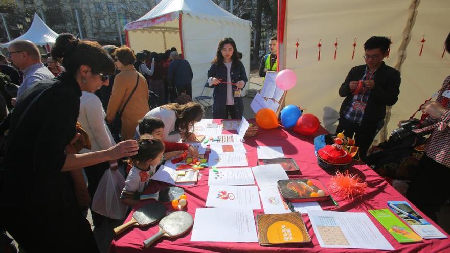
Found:
[[[227,67],[223,63],[220,63],[218,65],[213,63],[208,70],[208,78],[215,77],[217,79],[221,79],[224,82],[227,82],[228,81],[227,76],[228,76]],[[241,61],[239,61],[237,64],[231,65],[230,77],[232,83],[236,83],[238,81],[244,81],[245,84],[247,83],[247,74],[245,73],[245,67]],[[214,85],[209,86],[207,82],[206,86],[209,88],[214,88],[213,118],[214,119],[225,118],[226,103],[227,103],[227,85],[221,83],[216,86]],[[236,88],[235,85],[232,86],[233,89]],[[234,108],[236,110],[236,117],[238,119],[241,119],[244,112],[244,104],[242,103],[242,97],[234,97]]]

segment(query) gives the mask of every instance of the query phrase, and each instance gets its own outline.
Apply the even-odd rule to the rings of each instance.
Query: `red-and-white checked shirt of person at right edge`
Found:
[[[436,162],[450,168],[450,76],[445,78],[442,85],[443,88],[439,92],[436,101],[443,104],[447,110],[439,119],[428,116],[427,122],[432,124],[414,130],[414,132],[433,130],[426,143],[425,153]],[[445,93],[444,96],[443,93]]]

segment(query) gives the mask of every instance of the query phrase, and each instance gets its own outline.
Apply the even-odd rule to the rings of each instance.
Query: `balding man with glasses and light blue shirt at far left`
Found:
[[[55,76],[40,61],[39,49],[33,42],[18,40],[8,47],[6,56],[12,65],[24,73],[22,83],[17,91],[17,98],[12,98],[11,104],[15,106],[16,101],[24,94],[25,90],[42,80],[51,79]]]

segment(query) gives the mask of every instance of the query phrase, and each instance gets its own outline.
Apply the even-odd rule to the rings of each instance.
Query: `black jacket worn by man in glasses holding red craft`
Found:
[[[345,97],[339,110],[339,117],[344,117],[344,110],[352,102],[352,91],[349,83],[360,80],[366,69],[366,65],[353,67],[339,88],[339,96]],[[395,68],[387,66],[384,62],[378,68],[373,79],[375,86],[370,90],[364,117],[361,124],[376,124],[386,116],[386,106],[394,105],[400,94],[400,72]]]

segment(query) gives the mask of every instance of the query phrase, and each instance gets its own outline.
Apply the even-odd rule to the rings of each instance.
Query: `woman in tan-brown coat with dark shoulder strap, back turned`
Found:
[[[136,56],[130,48],[123,46],[114,52],[116,67],[120,73],[114,79],[113,92],[109,99],[106,121],[113,122],[116,112],[122,111],[122,108],[131,95],[136,81],[138,85],[131,96],[131,99],[125,106],[122,114],[121,139],[134,139],[138,120],[144,117],[150,109],[148,107],[148,86],[145,78],[133,67]]]

